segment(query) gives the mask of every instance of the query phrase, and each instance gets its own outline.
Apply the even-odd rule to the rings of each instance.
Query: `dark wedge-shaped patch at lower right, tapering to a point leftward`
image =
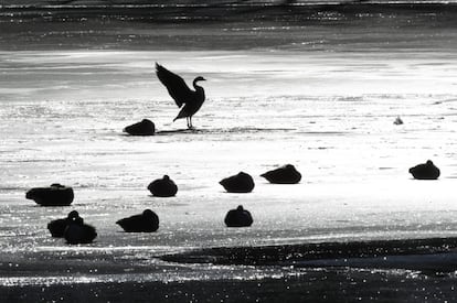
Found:
[[[457,270],[457,238],[216,247],[160,257],[180,263]],[[417,260],[422,260],[418,262]],[[427,262],[425,262],[427,260]],[[387,262],[390,261],[390,262]],[[387,264],[389,263],[389,264]]]

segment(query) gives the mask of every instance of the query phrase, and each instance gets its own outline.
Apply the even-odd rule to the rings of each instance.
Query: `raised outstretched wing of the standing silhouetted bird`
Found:
[[[156,63],[156,74],[159,80],[167,87],[168,94],[174,99],[178,107],[192,99],[192,90],[185,84],[184,79],[174,73],[171,73],[160,64]]]

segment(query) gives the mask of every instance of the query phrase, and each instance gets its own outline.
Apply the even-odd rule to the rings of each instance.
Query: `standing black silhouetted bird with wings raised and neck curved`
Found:
[[[167,87],[168,94],[174,99],[177,106],[181,108],[177,119],[185,118],[188,128],[192,127],[192,116],[202,107],[204,102],[204,89],[196,85],[198,82],[205,80],[205,78],[196,77],[192,85],[195,90],[191,90],[185,82],[177,74],[171,73],[160,64],[156,63],[156,74],[160,82]]]

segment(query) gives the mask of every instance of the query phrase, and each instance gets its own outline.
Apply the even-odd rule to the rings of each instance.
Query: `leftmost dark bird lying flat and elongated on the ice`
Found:
[[[33,199],[42,206],[68,206],[73,202],[74,193],[72,187],[54,183],[50,187],[30,190],[25,198]]]

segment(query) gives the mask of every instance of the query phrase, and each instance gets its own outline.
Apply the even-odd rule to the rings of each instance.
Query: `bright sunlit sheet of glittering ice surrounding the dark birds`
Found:
[[[369,42],[352,52],[299,43],[247,51],[1,52],[0,283],[74,283],[79,278],[62,277],[75,272],[82,283],[151,280],[148,274],[168,267],[171,273],[153,279],[247,280],[284,270],[195,270],[156,258],[208,247],[454,237],[457,55],[439,46],[406,52],[398,43],[389,52],[373,52]],[[208,79],[194,131],[171,122],[178,108],[155,62],[189,84],[198,75]],[[404,125],[393,123],[397,116]],[[155,137],[121,132],[144,118],[155,121]],[[427,159],[440,178],[413,180],[407,170]],[[301,172],[300,184],[259,177],[286,163]],[[240,171],[254,176],[254,192],[225,193],[219,181]],[[147,191],[163,174],[178,184],[177,197]],[[55,182],[74,187],[71,207],[24,198],[28,188]],[[226,212],[240,204],[254,225],[226,228]],[[145,208],[159,215],[158,232],[125,234],[115,225]],[[97,228],[93,245],[50,237],[47,221],[71,209]],[[55,269],[46,269],[50,261]],[[15,277],[11,269],[24,262],[43,279]],[[75,269],[63,273],[68,264]]]

